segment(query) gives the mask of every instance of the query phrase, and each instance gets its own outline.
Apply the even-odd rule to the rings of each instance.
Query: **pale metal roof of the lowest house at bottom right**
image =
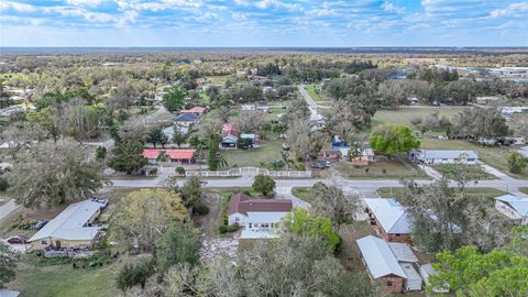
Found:
[[[355,242],[373,278],[388,275],[407,277],[386,241],[369,235]]]

